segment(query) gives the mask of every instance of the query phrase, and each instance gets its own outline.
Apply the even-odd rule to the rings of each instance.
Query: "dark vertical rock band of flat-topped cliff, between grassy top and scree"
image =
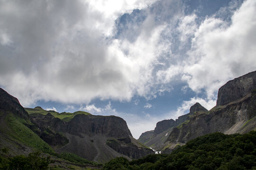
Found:
[[[124,119],[116,116],[76,115],[71,121],[55,118],[51,113],[47,115],[31,114],[32,122],[40,129],[50,127],[55,132],[67,132],[72,135],[87,136],[105,135],[107,137],[132,136]]]

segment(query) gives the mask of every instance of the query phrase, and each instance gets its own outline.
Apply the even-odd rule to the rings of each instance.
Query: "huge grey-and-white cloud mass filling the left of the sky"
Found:
[[[11,41],[12,48],[0,46],[0,85],[24,106],[38,100],[129,101],[134,94],[150,94],[165,26],[155,26],[148,17],[135,43],[113,40],[107,35],[116,17],[153,0],[119,1],[117,7],[113,2],[1,1],[0,15],[6,17],[0,30],[7,30],[1,43]]]

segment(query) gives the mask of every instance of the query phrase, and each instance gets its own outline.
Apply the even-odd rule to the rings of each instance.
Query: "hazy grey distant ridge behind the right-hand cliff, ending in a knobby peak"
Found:
[[[174,127],[177,127],[181,125],[183,122],[189,120],[190,115],[192,115],[195,112],[202,112],[202,111],[208,111],[204,107],[201,106],[200,103],[195,103],[191,108],[190,112],[178,117],[178,119],[169,119],[169,120],[162,120],[156,123],[156,127],[152,131],[147,131],[138,138],[138,140],[159,151],[164,147],[167,147],[169,144],[165,144],[165,141],[167,140],[170,133],[173,131]]]

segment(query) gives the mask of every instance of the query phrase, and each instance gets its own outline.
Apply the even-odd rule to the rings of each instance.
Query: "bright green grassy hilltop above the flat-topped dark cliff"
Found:
[[[39,113],[39,114],[43,114],[46,115],[48,113],[51,113],[55,118],[59,118],[64,120],[65,122],[69,122],[70,120],[73,119],[73,117],[75,117],[78,114],[84,114],[84,115],[89,115],[91,113],[85,112],[85,111],[76,111],[73,113],[69,113],[69,112],[62,112],[62,113],[58,113],[54,110],[44,110],[41,107],[35,107],[34,109],[31,108],[25,108],[25,110],[27,111],[28,114],[35,114],[35,113]]]

